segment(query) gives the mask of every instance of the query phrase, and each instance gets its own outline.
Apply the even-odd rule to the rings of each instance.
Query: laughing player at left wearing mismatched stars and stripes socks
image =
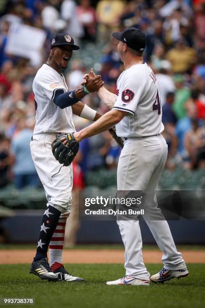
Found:
[[[36,125],[30,143],[32,159],[44,186],[47,209],[44,212],[38,247],[30,273],[47,280],[82,281],[69,274],[62,264],[66,218],[70,213],[72,165],[63,166],[51,151],[51,144],[61,133],[74,132],[72,112],[88,120],[100,116],[79,102],[89,92],[103,85],[100,76],[89,78],[86,90],[69,91],[62,71],[67,67],[72,51],[79,49],[68,34],[57,34],[51,42],[48,61],[38,70],[34,82]],[[74,105],[75,104],[75,105]],[[50,245],[50,246],[49,246]],[[50,248],[50,265],[47,251]]]

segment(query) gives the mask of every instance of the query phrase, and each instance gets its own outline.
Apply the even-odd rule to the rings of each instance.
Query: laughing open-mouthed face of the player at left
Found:
[[[53,58],[61,69],[67,68],[68,62],[72,57],[72,47],[68,45],[59,45],[53,48]]]

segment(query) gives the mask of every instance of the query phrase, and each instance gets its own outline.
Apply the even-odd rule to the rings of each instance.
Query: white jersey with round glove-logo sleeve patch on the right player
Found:
[[[118,136],[153,136],[164,130],[159,88],[147,63],[134,64],[121,73],[116,96],[113,108],[128,112],[116,125]]]

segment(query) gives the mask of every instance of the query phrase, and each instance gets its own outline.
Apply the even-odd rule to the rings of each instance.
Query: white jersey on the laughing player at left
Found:
[[[58,73],[48,64],[43,64],[33,82],[36,109],[34,134],[75,131],[72,108],[61,109],[53,103],[57,89],[68,92],[63,74]]]

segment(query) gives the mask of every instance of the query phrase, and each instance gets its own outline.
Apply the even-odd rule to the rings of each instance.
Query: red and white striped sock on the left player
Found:
[[[62,266],[63,244],[67,217],[60,217],[49,245],[50,266]]]

